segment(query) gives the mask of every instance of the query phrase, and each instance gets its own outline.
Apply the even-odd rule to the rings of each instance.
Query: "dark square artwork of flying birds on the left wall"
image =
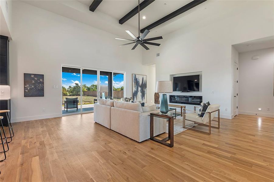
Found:
[[[44,75],[24,73],[24,97],[44,96]]]

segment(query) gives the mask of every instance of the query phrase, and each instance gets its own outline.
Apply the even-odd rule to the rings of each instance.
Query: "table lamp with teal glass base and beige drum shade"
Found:
[[[156,92],[164,93],[161,99],[160,112],[162,114],[168,113],[168,99],[165,93],[172,93],[172,82],[171,81],[158,81],[156,84]]]

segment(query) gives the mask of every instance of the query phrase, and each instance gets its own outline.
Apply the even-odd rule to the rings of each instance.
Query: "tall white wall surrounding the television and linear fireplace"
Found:
[[[273,35],[273,6],[273,1],[246,1],[210,24],[190,25],[165,35],[159,47],[143,51],[143,63],[156,63],[156,81],[169,80],[170,74],[202,71],[203,92],[188,95],[219,103],[220,116],[232,118],[231,45]]]

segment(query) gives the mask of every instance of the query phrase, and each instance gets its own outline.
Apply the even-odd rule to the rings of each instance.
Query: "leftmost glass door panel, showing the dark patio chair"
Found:
[[[62,67],[62,114],[81,113],[81,69]]]

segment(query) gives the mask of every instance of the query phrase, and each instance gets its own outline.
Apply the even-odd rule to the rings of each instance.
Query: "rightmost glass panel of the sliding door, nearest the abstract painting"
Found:
[[[113,100],[124,97],[124,73],[113,72]]]

